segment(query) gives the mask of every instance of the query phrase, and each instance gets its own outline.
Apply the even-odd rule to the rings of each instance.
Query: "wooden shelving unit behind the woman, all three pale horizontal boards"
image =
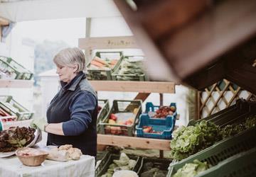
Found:
[[[78,41],[79,47],[89,53],[91,58],[92,50],[100,49],[127,49],[139,48],[133,36],[102,37],[102,38],[81,38]],[[157,74],[157,73],[156,73]],[[162,81],[90,81],[96,91],[122,91],[138,92],[134,99],[145,101],[150,93],[160,93],[160,103],[162,103],[162,93],[175,93],[174,82]],[[112,145],[119,147],[137,147],[144,149],[170,150],[170,140],[151,139],[141,137],[126,137],[117,135],[97,135],[98,147]],[[162,156],[162,152],[160,153]]]

